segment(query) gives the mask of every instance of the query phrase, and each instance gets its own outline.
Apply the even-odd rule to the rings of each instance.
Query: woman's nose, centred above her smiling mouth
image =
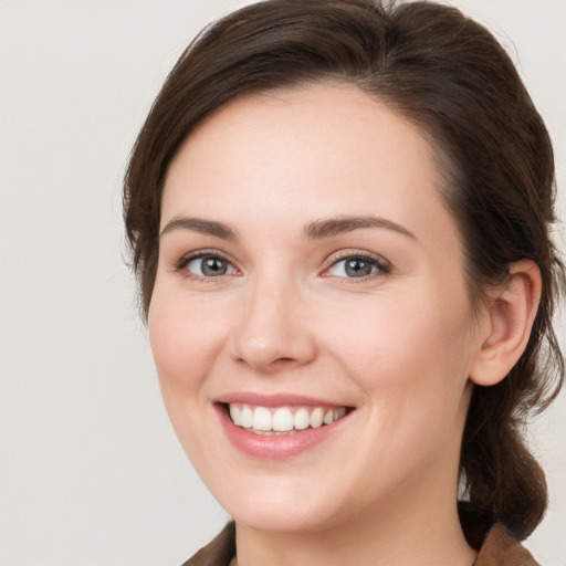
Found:
[[[272,375],[316,356],[312,321],[302,294],[282,282],[256,281],[248,290],[231,336],[231,354],[259,374]]]

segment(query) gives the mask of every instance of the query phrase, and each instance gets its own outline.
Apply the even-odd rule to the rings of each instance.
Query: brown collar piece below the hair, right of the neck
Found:
[[[488,533],[473,566],[539,565],[531,553],[501,523],[497,523]]]

